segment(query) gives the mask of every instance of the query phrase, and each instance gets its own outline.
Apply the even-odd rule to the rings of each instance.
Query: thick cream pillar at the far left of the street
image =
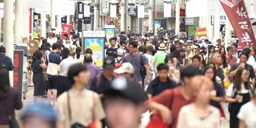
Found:
[[[6,56],[14,62],[14,2],[4,0],[4,18],[3,18],[3,46],[6,47]],[[14,72],[10,71],[10,85],[14,84]]]

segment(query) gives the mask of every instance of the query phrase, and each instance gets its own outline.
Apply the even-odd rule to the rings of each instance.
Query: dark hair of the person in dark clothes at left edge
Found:
[[[0,68],[0,101],[6,99],[7,94],[10,90],[10,78],[9,78],[9,71]]]

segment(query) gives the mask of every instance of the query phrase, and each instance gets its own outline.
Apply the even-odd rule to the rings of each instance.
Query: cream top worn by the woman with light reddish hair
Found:
[[[183,106],[178,113],[177,128],[219,128],[220,111],[214,106],[210,106],[210,113],[205,118],[198,117],[192,110],[194,105]]]

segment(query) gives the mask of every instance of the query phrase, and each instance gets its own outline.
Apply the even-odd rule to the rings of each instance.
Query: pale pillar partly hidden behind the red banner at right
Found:
[[[231,45],[231,24],[228,17],[226,17],[226,30],[225,30],[225,47]]]

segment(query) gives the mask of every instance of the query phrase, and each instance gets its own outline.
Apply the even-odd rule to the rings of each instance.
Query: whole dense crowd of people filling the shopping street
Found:
[[[72,42],[65,37],[42,39],[33,54],[34,104],[22,113],[25,128],[218,128],[227,119],[230,128],[256,127],[254,47],[122,32],[105,44],[100,70],[93,50],[82,54],[78,35]],[[0,69],[0,128],[22,108],[8,75]],[[38,102],[42,97],[48,105]]]

